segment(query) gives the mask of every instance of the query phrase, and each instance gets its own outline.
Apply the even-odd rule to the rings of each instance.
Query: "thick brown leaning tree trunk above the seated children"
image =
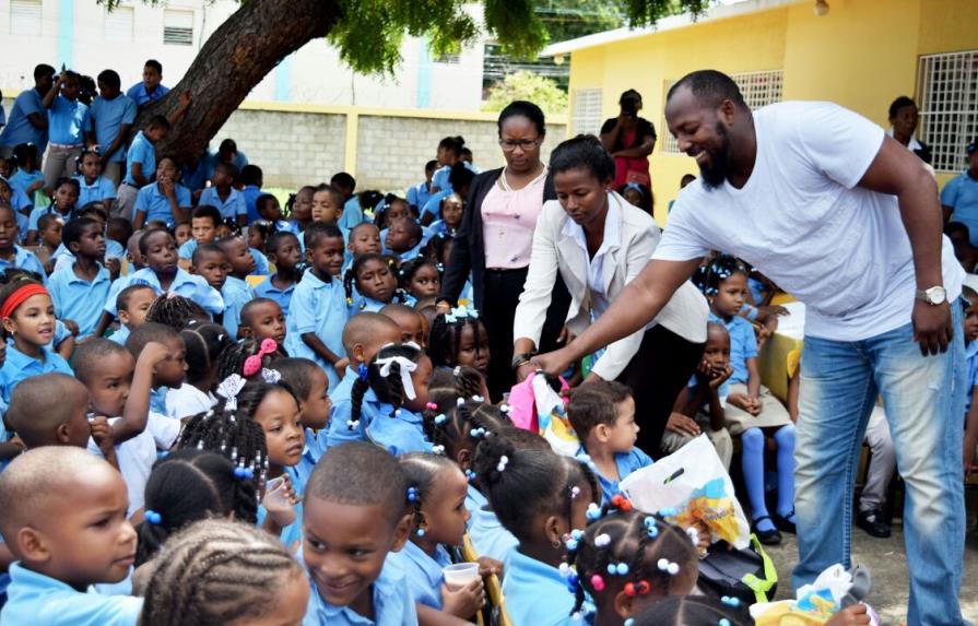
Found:
[[[279,62],[340,17],[333,0],[248,0],[221,24],[198,52],[184,79],[163,99],[139,114],[134,129],[154,115],[169,116],[190,94],[186,115],[160,142],[160,155],[196,161],[255,85]]]

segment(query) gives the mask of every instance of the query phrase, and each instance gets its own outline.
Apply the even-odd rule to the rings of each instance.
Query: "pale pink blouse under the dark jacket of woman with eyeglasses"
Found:
[[[546,169],[522,189],[512,189],[506,170],[482,201],[482,237],[487,270],[517,270],[530,264],[533,229],[543,210]]]

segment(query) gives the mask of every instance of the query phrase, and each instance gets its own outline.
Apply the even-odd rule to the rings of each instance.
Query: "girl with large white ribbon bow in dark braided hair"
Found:
[[[422,423],[431,377],[432,359],[417,346],[381,347],[353,383],[346,426],[394,456],[431,451]]]

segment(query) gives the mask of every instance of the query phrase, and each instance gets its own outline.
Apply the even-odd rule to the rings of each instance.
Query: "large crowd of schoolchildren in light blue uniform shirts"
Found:
[[[618,493],[651,463],[628,388],[570,395],[578,459],[490,401],[479,312],[436,306],[471,164],[428,163],[405,198],[338,174],[282,206],[233,141],[156,158],[187,99],[125,145],[161,71],[137,103],[106,70],[84,105],[78,75],[39,66],[44,167],[37,141],[0,160],[0,625],[461,624],[499,581],[517,626],[751,623],[694,594],[695,532]],[[729,465],[739,438],[776,543],[797,411],[761,386],[780,311],[757,279],[704,264],[705,355],[650,452],[706,433]],[[449,583],[464,560],[478,575]]]

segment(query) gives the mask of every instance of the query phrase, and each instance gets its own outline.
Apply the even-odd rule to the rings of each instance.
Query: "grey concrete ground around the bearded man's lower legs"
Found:
[[[961,602],[964,616],[978,624],[978,491],[967,492],[968,534],[965,546],[965,572]],[[904,533],[899,520],[894,521],[889,539],[875,539],[859,528],[852,529],[852,562],[870,568],[873,589],[869,603],[880,613],[885,625],[899,626],[907,619],[909,581]],[[778,600],[793,597],[791,569],[798,563],[798,544],[793,535],[785,535],[779,546],[766,548],[778,568]]]

